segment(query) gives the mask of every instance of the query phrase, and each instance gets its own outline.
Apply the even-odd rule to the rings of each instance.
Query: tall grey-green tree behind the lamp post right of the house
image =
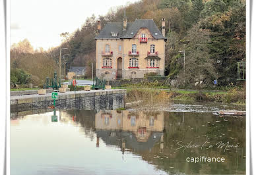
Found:
[[[210,32],[195,24],[184,39],[189,42],[185,46],[185,74],[180,71],[178,79],[185,87],[197,86],[201,94],[201,88],[216,78],[208,53]]]

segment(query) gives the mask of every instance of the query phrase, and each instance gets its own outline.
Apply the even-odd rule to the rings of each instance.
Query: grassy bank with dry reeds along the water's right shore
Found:
[[[245,92],[241,89],[232,89],[229,91],[202,91],[199,94],[197,90],[162,90],[162,89],[140,89],[127,88],[127,103],[133,101],[145,101],[145,103],[164,103],[166,100],[171,101],[201,101],[216,102],[227,104],[245,105]]]

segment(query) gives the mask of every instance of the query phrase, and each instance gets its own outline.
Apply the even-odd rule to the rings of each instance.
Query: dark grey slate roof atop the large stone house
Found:
[[[135,20],[135,22],[127,22],[126,30],[123,30],[123,22],[108,22],[95,39],[129,39],[133,38],[141,28],[147,28],[155,39],[166,39],[154,23],[154,20],[141,19]],[[111,32],[117,32],[117,36],[112,36]]]

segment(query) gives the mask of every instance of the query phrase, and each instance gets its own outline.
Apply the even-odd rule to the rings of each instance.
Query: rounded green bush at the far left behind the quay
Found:
[[[31,82],[31,74],[23,69],[11,68],[11,84],[28,84]]]

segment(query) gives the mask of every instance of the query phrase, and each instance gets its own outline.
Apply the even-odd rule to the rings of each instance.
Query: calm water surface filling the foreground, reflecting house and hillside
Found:
[[[218,148],[219,141],[238,147]],[[191,148],[181,147],[186,144]],[[186,161],[200,156],[225,161]],[[245,174],[245,116],[85,110],[13,114],[11,174]]]

